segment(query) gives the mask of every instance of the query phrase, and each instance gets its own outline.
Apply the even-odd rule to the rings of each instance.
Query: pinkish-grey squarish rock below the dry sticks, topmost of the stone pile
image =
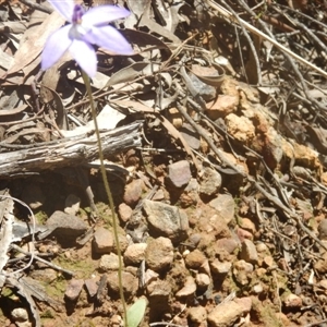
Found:
[[[174,187],[186,185],[192,178],[190,162],[180,160],[168,166],[167,181]]]

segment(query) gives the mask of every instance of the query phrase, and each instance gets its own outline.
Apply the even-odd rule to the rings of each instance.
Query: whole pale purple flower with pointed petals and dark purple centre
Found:
[[[93,45],[120,55],[133,55],[126,39],[112,26],[114,20],[130,12],[114,5],[100,5],[84,11],[73,0],[48,0],[70,24],[49,36],[41,56],[41,69],[47,70],[69,50],[84,72],[93,77],[97,71],[97,58]]]

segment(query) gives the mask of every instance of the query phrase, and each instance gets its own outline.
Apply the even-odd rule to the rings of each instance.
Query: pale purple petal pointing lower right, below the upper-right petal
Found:
[[[134,55],[132,46],[112,26],[93,27],[84,39],[118,55]]]

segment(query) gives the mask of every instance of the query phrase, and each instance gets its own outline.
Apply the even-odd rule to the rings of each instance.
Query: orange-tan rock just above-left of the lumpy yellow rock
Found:
[[[239,99],[233,95],[219,95],[217,100],[207,104],[207,114],[211,120],[225,118],[237,110]]]

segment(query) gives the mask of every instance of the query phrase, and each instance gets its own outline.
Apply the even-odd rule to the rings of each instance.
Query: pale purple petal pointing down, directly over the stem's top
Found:
[[[82,70],[93,77],[97,72],[97,56],[93,46],[84,40],[75,39],[70,47],[70,52],[77,61]]]

